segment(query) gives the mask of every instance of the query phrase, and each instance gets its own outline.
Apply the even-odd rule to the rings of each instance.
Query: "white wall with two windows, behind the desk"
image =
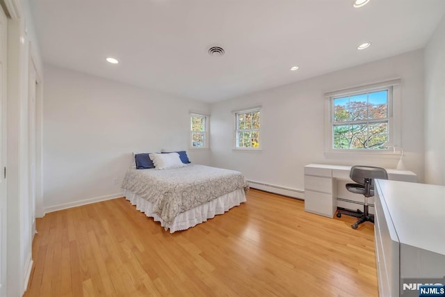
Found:
[[[299,71],[304,71],[299,70]],[[292,75],[290,73],[289,75]],[[241,170],[255,182],[304,189],[307,163],[395,168],[396,156],[325,156],[323,94],[400,77],[405,166],[423,182],[423,51],[412,51],[211,106],[211,164]],[[234,151],[236,109],[261,105],[261,152]]]

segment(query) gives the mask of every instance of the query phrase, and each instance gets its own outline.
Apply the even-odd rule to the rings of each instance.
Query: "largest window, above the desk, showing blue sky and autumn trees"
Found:
[[[394,133],[393,93],[393,85],[382,83],[339,91],[327,97],[329,150],[387,150],[385,144],[398,138]]]

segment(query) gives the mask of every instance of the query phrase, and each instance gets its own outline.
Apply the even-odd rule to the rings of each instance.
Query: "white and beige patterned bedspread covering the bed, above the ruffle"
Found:
[[[178,214],[236,189],[248,191],[241,172],[189,164],[166,170],[130,169],[122,188],[152,202],[153,213],[169,227]]]

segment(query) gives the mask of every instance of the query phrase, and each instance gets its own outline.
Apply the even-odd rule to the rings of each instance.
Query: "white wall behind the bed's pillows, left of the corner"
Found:
[[[131,152],[187,150],[209,164],[209,150],[188,150],[189,113],[209,104],[51,65],[44,77],[45,211],[120,196]]]

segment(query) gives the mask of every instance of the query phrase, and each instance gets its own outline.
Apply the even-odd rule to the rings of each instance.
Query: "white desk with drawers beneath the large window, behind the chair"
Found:
[[[337,206],[357,209],[363,197],[349,193],[343,184],[349,178],[351,166],[309,164],[305,166],[305,211],[332,218]],[[387,169],[388,178],[403,182],[416,182],[416,175],[409,170]],[[337,186],[339,184],[339,186]],[[372,203],[372,201],[370,201]],[[373,213],[373,209],[370,209]]]

